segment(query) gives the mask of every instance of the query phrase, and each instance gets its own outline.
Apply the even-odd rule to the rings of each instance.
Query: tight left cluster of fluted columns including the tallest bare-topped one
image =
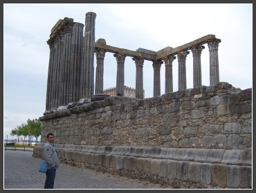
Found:
[[[50,59],[46,110],[93,96],[95,17],[94,12],[86,13],[85,30],[84,24],[65,18],[64,24],[47,41]]]

